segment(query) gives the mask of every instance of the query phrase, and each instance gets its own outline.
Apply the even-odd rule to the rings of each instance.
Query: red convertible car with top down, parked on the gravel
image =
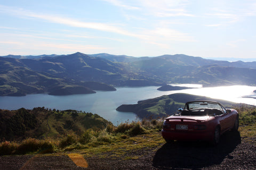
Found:
[[[166,142],[202,140],[217,145],[222,133],[238,130],[237,111],[216,101],[189,101],[179,111],[165,118],[162,136]]]

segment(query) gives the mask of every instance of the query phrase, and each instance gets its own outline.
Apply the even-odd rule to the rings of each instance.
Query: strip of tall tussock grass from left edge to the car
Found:
[[[43,140],[28,138],[21,142],[4,141],[0,143],[0,155],[50,153],[71,151],[74,149],[88,149],[98,146],[114,145],[126,140],[134,141],[137,135],[157,132],[162,129],[163,120],[143,120],[141,122],[121,123],[118,126],[108,124],[103,130],[85,130],[81,135],[68,133],[64,138],[46,138]]]

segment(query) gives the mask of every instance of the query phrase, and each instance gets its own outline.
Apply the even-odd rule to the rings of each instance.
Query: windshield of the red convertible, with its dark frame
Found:
[[[185,106],[185,109],[188,110],[199,110],[199,109],[205,109],[205,108],[211,108],[211,109],[218,109],[220,111],[223,111],[222,107],[218,103],[210,102],[210,101],[196,101],[193,103],[188,103]]]

